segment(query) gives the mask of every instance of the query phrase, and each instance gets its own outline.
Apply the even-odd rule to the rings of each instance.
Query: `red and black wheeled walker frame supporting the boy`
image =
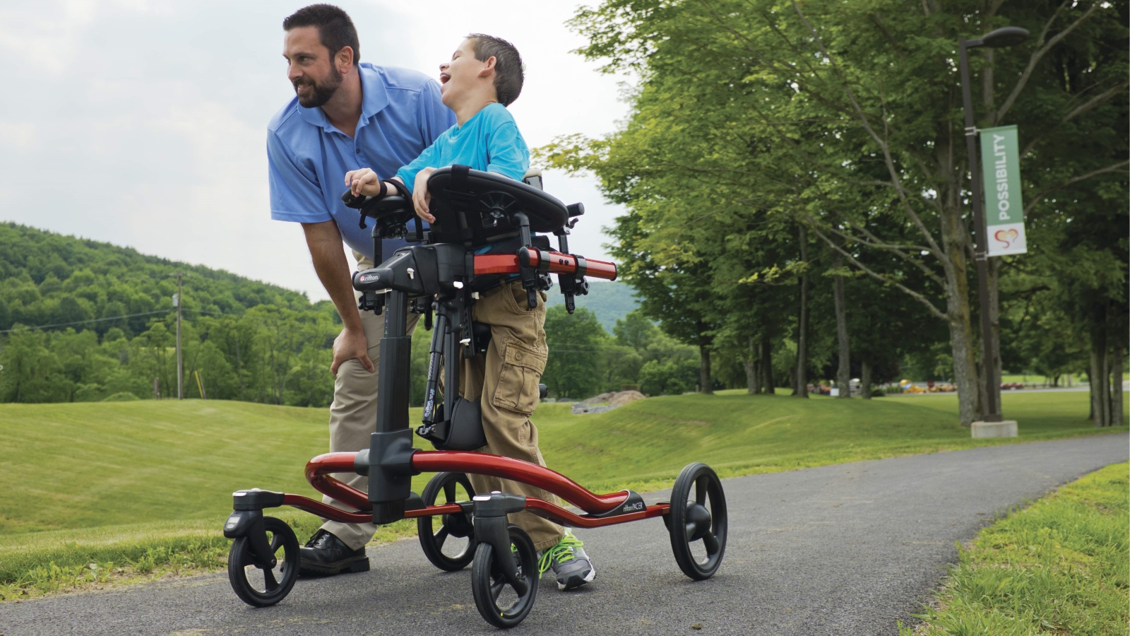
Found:
[[[441,169],[433,174],[433,179],[441,173],[446,174],[445,171],[453,172],[454,169]],[[480,174],[478,171],[464,169],[462,178],[468,179],[468,174],[492,187],[498,186],[498,183],[492,183],[497,179],[506,181],[505,178],[492,177],[488,173]],[[512,184],[506,182],[502,186],[505,189]],[[557,208],[562,207],[559,201],[556,199],[554,201]],[[350,201],[346,203],[350,205]],[[538,208],[537,205],[533,207]],[[393,210],[393,216],[389,216],[389,210],[376,212],[376,216],[371,214],[368,216],[373,216],[374,220],[377,217],[384,220],[373,229],[374,249],[380,256],[380,239],[390,229],[388,223],[400,218],[400,216],[395,216],[397,214],[405,215],[406,213]],[[555,209],[554,212],[560,210]],[[575,213],[574,216],[580,213]],[[572,210],[571,214],[573,214]],[[365,215],[366,213],[363,212],[362,227],[365,226]],[[586,293],[585,276],[616,278],[615,264],[568,253],[565,239],[565,235],[568,234],[567,230],[554,232],[559,239],[559,251],[548,250],[532,244],[531,223],[525,212],[514,213],[514,221],[519,223],[519,235],[522,237],[523,243],[518,253],[473,255],[471,258],[467,258],[471,256],[469,252],[459,252],[452,246],[443,248],[441,253],[441,244],[437,243],[429,250],[419,251],[418,248],[412,248],[408,252],[400,250],[398,255],[405,256],[394,257],[386,261],[382,260],[381,268],[364,273],[358,272],[354,275],[354,289],[363,291],[365,294],[360,308],[377,310],[385,306],[390,312],[382,343],[388,343],[386,346],[392,349],[381,359],[381,366],[384,369],[381,376],[381,393],[394,397],[391,403],[379,404],[383,404],[384,409],[379,409],[375,422],[376,431],[373,433],[370,448],[354,453],[327,453],[314,457],[306,464],[305,475],[310,484],[319,492],[350,509],[344,510],[302,495],[259,489],[241,490],[233,493],[234,509],[225,523],[224,535],[234,540],[228,555],[228,577],[236,595],[244,602],[254,607],[278,603],[289,593],[297,577],[297,569],[292,566],[280,570],[284,576],[281,582],[275,578],[273,574],[270,574],[280,562],[277,557],[279,549],[285,550],[287,561],[293,561],[301,552],[297,539],[289,526],[277,518],[263,516],[264,508],[276,506],[292,506],[323,518],[350,524],[367,524],[374,521],[391,523],[401,518],[417,518],[421,524],[425,524],[420,526],[420,540],[425,555],[433,565],[449,571],[466,567],[472,559],[468,557],[467,549],[459,557],[443,555],[441,551],[443,538],[440,534],[435,535],[438,538],[438,543],[429,543],[427,539],[431,539],[431,533],[426,533],[425,528],[431,527],[432,524],[426,518],[436,515],[464,517],[460,519],[445,518],[445,528],[449,523],[457,523],[458,528],[450,534],[443,534],[443,536],[471,536],[470,533],[473,532],[475,540],[478,542],[473,553],[473,562],[471,562],[471,587],[475,603],[484,619],[502,628],[518,625],[529,613],[538,588],[536,581],[538,576],[534,576],[533,573],[540,574],[538,557],[529,536],[521,528],[507,526],[507,515],[516,512],[528,510],[562,525],[584,528],[661,517],[670,534],[675,559],[684,574],[692,579],[702,581],[710,578],[718,569],[725,548],[725,498],[718,475],[704,464],[695,463],[683,469],[675,482],[671,495],[672,502],[664,501],[644,506],[644,501],[636,492],[623,490],[596,495],[565,475],[530,462],[468,450],[419,450],[410,447],[412,435],[408,424],[407,381],[401,381],[405,379],[402,375],[385,373],[385,371],[400,369],[399,363],[408,362],[410,338],[406,334],[405,316],[409,310],[409,294],[418,298],[438,294],[436,302],[446,303],[432,306],[440,313],[442,320],[437,323],[437,326],[445,325],[443,337],[446,338],[440,349],[435,349],[437,336],[433,334],[428,371],[428,387],[432,393],[428,399],[434,401],[435,383],[438,381],[437,371],[435,371],[438,368],[436,367],[438,356],[443,351],[450,353],[451,347],[458,346],[457,342],[466,346],[468,343],[473,343],[476,337],[473,329],[470,329],[464,334],[467,335],[466,340],[458,341],[459,335],[450,326],[446,326],[447,320],[455,318],[461,321],[469,320],[470,315],[467,311],[470,299],[477,298],[470,294],[469,290],[463,290],[464,281],[461,276],[470,274],[471,280],[473,280],[473,276],[478,275],[520,274],[522,286],[525,289],[532,307],[536,302],[534,289],[544,289],[542,282],[544,278],[548,277],[548,274],[566,275],[566,281],[560,281],[560,284],[563,293],[565,293],[566,308],[571,313],[574,307],[573,298],[579,293]],[[545,222],[546,220],[540,218],[539,221]],[[573,222],[567,222],[566,225],[572,227]],[[443,272],[447,278],[436,277],[435,281],[428,278],[427,284],[424,284],[421,275],[420,280],[412,283],[414,267],[418,267],[414,260],[417,252],[424,259],[421,263],[425,265],[433,268],[440,265],[446,267],[447,269]],[[470,272],[464,274],[463,268]],[[407,281],[401,280],[403,276],[407,276]],[[541,277],[542,281],[539,282],[538,277]],[[568,286],[565,285],[566,282],[570,283]],[[441,287],[440,283],[445,283],[447,286]],[[463,290],[462,295],[453,290]],[[377,291],[389,292],[388,298],[377,299]],[[412,310],[419,311],[419,308],[414,304]],[[454,316],[454,313],[459,313],[459,316]],[[431,317],[431,313],[428,316]],[[459,324],[464,332],[470,327],[466,323]],[[472,344],[472,346],[475,345]],[[451,378],[445,376],[449,386],[458,386],[458,380],[453,379],[458,378],[458,367],[451,364],[451,360],[445,360],[443,367],[446,369],[445,372],[452,376]],[[395,378],[400,378],[400,380]],[[451,421],[455,421],[454,399],[459,398],[451,398],[446,395],[444,397],[446,407],[450,409]],[[433,405],[434,402],[427,404]],[[447,433],[443,433],[441,437],[433,433],[436,422],[434,421],[435,412],[432,413],[433,418],[425,418],[426,426],[418,429],[419,435],[425,439],[433,440],[434,444],[438,440],[441,447],[447,446],[449,441],[445,437]],[[461,440],[458,445],[451,446],[473,448],[480,444],[475,444],[472,438],[471,441]],[[368,475],[371,492],[350,487],[334,478],[333,475],[337,473]],[[473,501],[445,502],[425,507],[419,496],[409,493],[410,485],[407,480],[408,475],[420,473],[447,473],[443,485],[449,496],[451,490],[447,488],[447,480],[454,476],[453,473],[489,475],[530,484],[556,495],[566,504],[580,508],[582,514],[544,499],[502,492],[480,492],[475,495]],[[455,480],[462,481],[462,478],[455,478]],[[429,482],[428,489],[425,490],[428,497],[433,496],[433,483],[434,479],[433,482]],[[467,487],[466,481],[462,483]],[[694,489],[693,495],[692,489]],[[370,501],[371,497],[375,502]],[[710,508],[706,507],[707,504],[711,506]],[[405,509],[409,506],[420,507]],[[268,532],[272,533],[270,540],[268,540]],[[699,540],[703,541],[706,549],[705,561],[690,551],[690,543]],[[468,547],[471,547],[471,543],[468,543]],[[510,551],[518,555],[515,560],[498,557]],[[249,568],[263,570],[262,584],[266,590],[260,590],[257,586],[258,583],[247,577]],[[363,564],[360,561],[350,564],[348,569],[349,571],[365,571],[368,569],[368,559],[364,559]],[[528,576],[523,576],[522,571],[528,571]],[[533,579],[532,584],[531,579]],[[585,581],[591,581],[591,576]],[[513,605],[502,607],[497,604],[497,599],[499,590],[506,584],[513,588],[519,600]],[[558,585],[560,585],[560,581],[558,581]]]

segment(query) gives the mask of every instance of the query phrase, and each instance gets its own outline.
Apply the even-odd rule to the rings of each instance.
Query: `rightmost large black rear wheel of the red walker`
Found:
[[[679,569],[695,581],[713,576],[722,565],[727,534],[725,492],[713,469],[697,463],[683,469],[671,489],[668,516],[664,521]],[[696,541],[703,542],[706,556],[702,560],[690,549]]]

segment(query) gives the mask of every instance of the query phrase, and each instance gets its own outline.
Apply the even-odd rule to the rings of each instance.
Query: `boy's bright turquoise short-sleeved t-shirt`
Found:
[[[440,134],[415,161],[397,171],[397,177],[416,187],[416,174],[425,167],[467,165],[521,181],[530,167],[530,148],[506,106],[495,102],[475,113],[463,126]]]

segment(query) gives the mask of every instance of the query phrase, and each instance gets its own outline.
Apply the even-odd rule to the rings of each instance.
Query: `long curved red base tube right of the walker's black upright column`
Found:
[[[627,499],[627,491],[593,495],[575,481],[545,466],[486,453],[417,450],[412,454],[412,469],[421,473],[458,471],[520,481],[548,490],[582,510],[598,515]]]

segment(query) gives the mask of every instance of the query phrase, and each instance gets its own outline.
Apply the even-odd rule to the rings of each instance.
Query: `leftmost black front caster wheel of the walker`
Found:
[[[232,583],[232,590],[244,603],[257,608],[273,605],[290,593],[294,582],[298,579],[301,559],[298,539],[286,522],[275,517],[263,517],[263,525],[275,558],[278,559],[275,569],[263,570],[254,564],[251,558],[250,541],[246,536],[233,541],[232,549],[227,552],[227,578]],[[249,575],[255,576],[257,579],[262,577],[262,590],[257,588],[255,584],[249,581]]]

